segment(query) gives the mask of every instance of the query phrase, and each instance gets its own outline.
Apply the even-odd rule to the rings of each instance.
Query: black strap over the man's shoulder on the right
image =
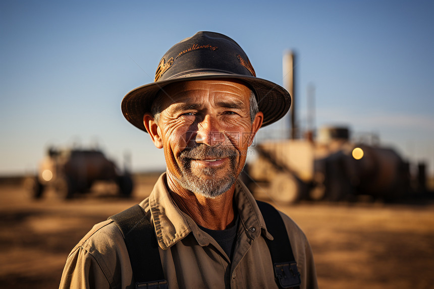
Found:
[[[272,257],[276,283],[279,288],[299,289],[301,284],[300,273],[297,270],[297,263],[292,253],[285,223],[279,211],[272,205],[261,201],[256,202],[261,210],[268,232],[274,237],[273,241],[265,240]]]

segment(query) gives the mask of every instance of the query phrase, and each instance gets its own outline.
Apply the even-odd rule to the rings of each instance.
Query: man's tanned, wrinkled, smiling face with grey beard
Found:
[[[156,133],[148,132],[164,148],[168,177],[195,194],[223,194],[238,178],[262,124],[261,112],[251,122],[250,89],[237,82],[199,80],[164,90]],[[146,126],[146,115],[144,120]]]

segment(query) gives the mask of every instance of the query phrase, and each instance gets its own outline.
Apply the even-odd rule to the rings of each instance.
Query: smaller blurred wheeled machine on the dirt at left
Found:
[[[96,181],[115,183],[121,196],[128,197],[133,181],[127,165],[121,171],[98,149],[49,148],[36,176],[27,178],[25,186],[34,198],[42,197],[47,187],[55,189],[61,198],[87,193]]]

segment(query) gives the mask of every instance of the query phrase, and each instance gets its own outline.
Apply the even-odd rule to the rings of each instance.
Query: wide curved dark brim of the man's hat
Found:
[[[143,124],[143,115],[150,112],[155,95],[161,88],[168,84],[182,81],[222,78],[241,80],[254,90],[259,111],[262,111],[264,114],[261,127],[272,124],[283,118],[291,106],[291,96],[289,92],[276,83],[254,76],[213,73],[177,77],[139,86],[125,95],[121,104],[122,113],[132,125],[146,132],[146,128]]]

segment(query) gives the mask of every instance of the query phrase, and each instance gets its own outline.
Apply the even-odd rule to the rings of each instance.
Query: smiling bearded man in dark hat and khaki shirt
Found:
[[[258,129],[282,118],[290,103],[285,89],[256,78],[231,38],[198,32],[175,44],[162,57],[155,81],[122,101],[126,119],[164,149],[167,171],[139,204],[142,220],[151,224],[144,238],[156,238],[157,257],[142,256],[139,263],[153,270],[161,261],[165,280],[138,280],[147,272],[135,273],[140,264],[132,263],[145,241],[126,243],[133,229],[140,231],[139,221],[123,230],[108,219],[73,249],[61,287],[278,288],[279,278],[298,278],[298,270],[300,288],[316,288],[312,252],[300,228],[283,213],[267,227],[265,214],[237,180]],[[272,236],[269,228],[278,219],[280,232]],[[281,277],[275,277],[281,265],[267,244],[281,232],[289,242],[278,254],[292,248],[297,265],[279,267]]]

